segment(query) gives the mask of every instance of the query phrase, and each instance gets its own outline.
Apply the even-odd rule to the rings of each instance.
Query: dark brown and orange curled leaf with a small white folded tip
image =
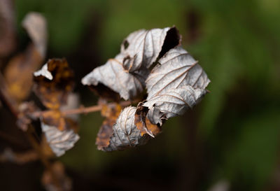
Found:
[[[40,71],[34,72],[34,92],[51,109],[66,104],[73,90],[73,71],[66,59],[49,59]]]

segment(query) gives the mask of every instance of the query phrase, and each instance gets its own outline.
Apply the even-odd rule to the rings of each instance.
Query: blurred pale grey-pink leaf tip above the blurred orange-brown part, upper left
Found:
[[[45,17],[40,13],[31,12],[25,16],[22,21],[22,27],[24,27],[32,42],[34,43],[36,50],[40,53],[42,58],[45,58],[45,50],[47,47],[47,21]]]

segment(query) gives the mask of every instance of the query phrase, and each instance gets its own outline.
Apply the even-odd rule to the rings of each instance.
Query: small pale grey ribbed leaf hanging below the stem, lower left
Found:
[[[46,125],[42,121],[41,128],[50,148],[57,157],[64,155],[66,150],[73,148],[74,144],[80,139],[80,136],[73,132],[73,129],[59,131],[57,127]]]

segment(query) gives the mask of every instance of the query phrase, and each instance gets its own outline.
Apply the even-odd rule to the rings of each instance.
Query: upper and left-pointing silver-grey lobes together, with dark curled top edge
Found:
[[[134,99],[145,89],[148,68],[180,41],[175,27],[135,31],[125,38],[119,55],[87,74],[82,83],[95,87],[103,84],[125,100]]]

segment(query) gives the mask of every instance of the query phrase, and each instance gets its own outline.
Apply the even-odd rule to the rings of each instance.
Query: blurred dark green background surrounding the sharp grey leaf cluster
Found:
[[[80,78],[114,57],[137,29],[176,25],[211,84],[146,146],[103,153],[103,118],[80,117],[80,141],[61,160],[75,190],[280,190],[280,1],[16,0],[48,20],[48,57],[66,57],[82,104],[97,97]],[[223,191],[223,190],[222,190]]]

